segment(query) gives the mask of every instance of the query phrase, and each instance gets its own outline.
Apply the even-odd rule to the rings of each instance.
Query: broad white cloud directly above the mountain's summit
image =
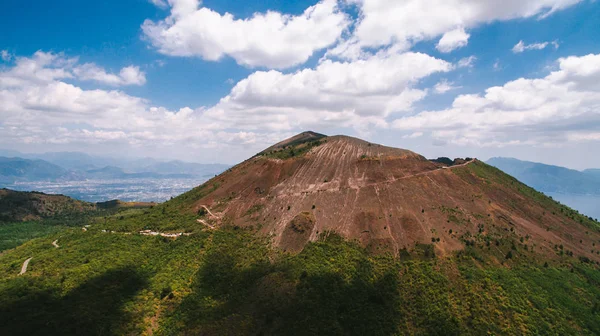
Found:
[[[412,110],[427,92],[420,79],[452,65],[421,53],[380,51],[366,60],[325,60],[292,74],[255,72],[206,111],[206,116],[242,129],[387,127],[386,118]]]

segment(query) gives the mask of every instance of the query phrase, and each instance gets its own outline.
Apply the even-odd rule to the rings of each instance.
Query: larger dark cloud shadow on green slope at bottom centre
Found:
[[[171,316],[166,334],[391,335],[400,322],[398,274],[376,276],[359,262],[350,279],[307,275],[294,266],[255,263],[243,268],[227,251],[207,256],[194,292]],[[298,269],[296,267],[296,269]],[[375,280],[373,280],[375,279]]]

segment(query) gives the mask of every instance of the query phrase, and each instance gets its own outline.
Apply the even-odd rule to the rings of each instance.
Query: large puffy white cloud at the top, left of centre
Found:
[[[197,0],[169,0],[165,20],[146,20],[142,30],[160,53],[216,61],[227,55],[249,67],[302,64],[341,36],[350,20],[336,0],[322,0],[298,16],[269,11],[236,19],[199,8]]]

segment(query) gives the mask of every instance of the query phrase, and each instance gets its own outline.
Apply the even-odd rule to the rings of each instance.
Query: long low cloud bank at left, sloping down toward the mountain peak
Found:
[[[201,108],[169,110],[118,90],[82,89],[67,82],[82,76],[76,64],[76,58],[38,51],[0,69],[0,143],[114,143],[191,150],[240,143],[260,148],[279,139],[280,134],[232,130],[205,117]],[[96,72],[105,75],[91,73]],[[139,81],[137,75],[135,69],[121,71],[119,80]]]

